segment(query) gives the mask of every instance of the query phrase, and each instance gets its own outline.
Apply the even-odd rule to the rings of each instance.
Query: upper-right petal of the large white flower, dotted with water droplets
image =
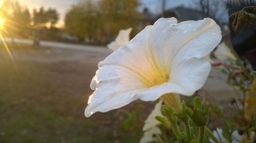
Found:
[[[175,21],[175,19],[159,19],[156,23],[162,21]],[[176,57],[177,59],[180,56],[184,59],[203,58],[219,44],[222,37],[219,25],[210,18],[178,24],[164,23],[165,26],[154,25],[150,36],[152,56],[154,61],[160,62],[160,68],[164,71],[169,71],[172,66],[170,61]]]

